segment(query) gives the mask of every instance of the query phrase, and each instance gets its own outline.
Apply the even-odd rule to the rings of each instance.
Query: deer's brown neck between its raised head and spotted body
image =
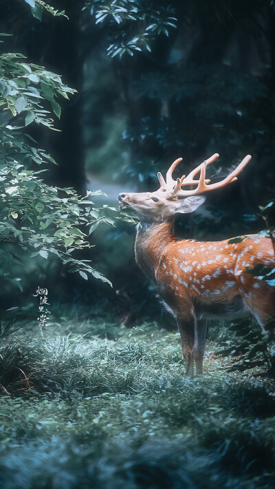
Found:
[[[155,281],[162,255],[174,237],[174,220],[137,226],[135,261],[142,272]]]

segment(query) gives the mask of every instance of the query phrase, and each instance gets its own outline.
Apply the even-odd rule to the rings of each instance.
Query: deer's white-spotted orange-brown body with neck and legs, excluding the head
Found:
[[[202,370],[205,345],[202,338],[197,354],[194,320],[204,334],[209,317],[231,318],[250,312],[263,327],[275,316],[274,287],[248,273],[248,268],[257,263],[274,267],[275,255],[272,240],[267,237],[250,235],[241,243],[228,243],[228,239],[179,241],[173,227],[172,220],[138,230],[135,258],[175,313],[184,357],[192,373],[196,355],[197,370]]]

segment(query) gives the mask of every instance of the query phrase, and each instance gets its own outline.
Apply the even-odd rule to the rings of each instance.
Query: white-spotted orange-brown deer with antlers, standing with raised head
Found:
[[[177,320],[186,374],[190,376],[194,374],[194,362],[196,373],[203,373],[208,320],[232,320],[252,314],[264,328],[275,316],[275,287],[249,273],[257,263],[275,266],[270,237],[246,235],[234,242],[175,236],[175,215],[194,212],[206,200],[201,194],[236,181],[251,160],[251,155],[246,155],[230,175],[210,184],[206,167],[217,157],[215,153],[187,176],[174,180],[173,171],[182,160],[178,158],[168,169],[166,181],[157,173],[157,191],[118,196],[120,209],[132,208],[140,219],[135,260],[153,280],[162,302]],[[195,180],[198,173],[199,180]]]

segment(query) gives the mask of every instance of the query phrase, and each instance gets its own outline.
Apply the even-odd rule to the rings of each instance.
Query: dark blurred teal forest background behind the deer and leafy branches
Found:
[[[100,188],[107,197],[95,198],[96,206],[117,207],[121,191],[156,189],[157,171],[165,173],[177,157],[184,158],[182,175],[219,153],[208,169],[214,182],[250,153],[236,183],[209,193],[195,215],[177,217],[177,235],[216,240],[272,225],[273,206],[265,219],[259,206],[274,197],[273,1],[132,2],[144,15],[159,9],[157,27],[144,32],[141,21],[123,17],[123,1],[107,2],[104,10],[102,2],[60,0],[69,20],[45,15],[42,22],[30,14],[31,3],[1,0],[0,30],[13,34],[5,52],[22,52],[77,90],[63,102],[61,132],[29,129],[58,162],[45,182],[80,195]],[[23,287],[14,293],[6,282],[2,306],[32,303],[40,285],[56,307],[107,307],[125,325],[141,315],[167,323],[153,285],[135,264],[134,239],[134,224],[120,219],[92,235],[96,246],[85,257],[113,288],[33,258],[12,264]]]

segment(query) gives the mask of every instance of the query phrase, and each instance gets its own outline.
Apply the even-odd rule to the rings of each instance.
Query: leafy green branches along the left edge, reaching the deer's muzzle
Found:
[[[95,208],[90,197],[102,195],[101,191],[80,198],[72,188],[45,184],[41,180],[45,169],[37,165],[55,161],[23,131],[32,123],[55,129],[51,111],[59,118],[59,98],[69,98],[74,91],[60,76],[25,63],[22,54],[0,56],[0,241],[18,246],[30,257],[58,257],[69,272],[110,283],[76,254],[90,248],[89,235],[100,222],[114,224],[115,209]],[[20,281],[16,285],[21,288]]]

